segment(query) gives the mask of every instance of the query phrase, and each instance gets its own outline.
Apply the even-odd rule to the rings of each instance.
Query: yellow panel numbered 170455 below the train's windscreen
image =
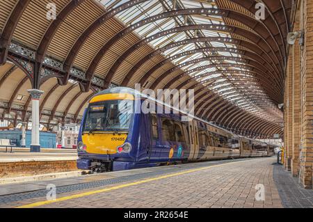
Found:
[[[116,148],[122,145],[127,134],[83,134],[83,144],[86,145],[86,152],[93,154],[115,154]]]

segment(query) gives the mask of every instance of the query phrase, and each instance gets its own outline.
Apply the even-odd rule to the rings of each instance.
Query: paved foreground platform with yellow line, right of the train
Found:
[[[313,207],[274,157],[204,161],[0,185],[0,207]],[[47,193],[55,187],[55,196]],[[52,194],[53,194],[52,193]]]

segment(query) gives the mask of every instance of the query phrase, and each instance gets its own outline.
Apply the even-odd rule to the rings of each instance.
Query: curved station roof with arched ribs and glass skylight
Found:
[[[79,122],[97,91],[139,83],[194,88],[195,115],[234,133],[282,134],[291,2],[1,0],[0,117],[30,120],[38,88],[42,125]]]

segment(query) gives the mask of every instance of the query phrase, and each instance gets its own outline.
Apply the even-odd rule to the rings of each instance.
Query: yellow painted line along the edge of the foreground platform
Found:
[[[251,160],[249,160],[249,161],[251,161]],[[209,168],[218,167],[218,166],[226,166],[226,165],[230,165],[230,164],[236,164],[236,163],[239,163],[239,162],[241,162],[241,161],[236,161],[236,162],[226,163],[226,164],[218,164],[218,165],[214,165],[214,166],[204,166],[204,167],[201,167],[201,168],[195,168],[195,169],[192,169],[192,170],[182,171],[182,172],[179,172],[179,173],[172,173],[172,174],[163,175],[163,176],[159,176],[159,177],[152,177],[152,178],[146,179],[146,180],[139,180],[137,182],[131,182],[131,183],[128,183],[128,184],[121,184],[121,185],[118,185],[118,186],[115,186],[115,187],[109,187],[109,188],[99,189],[99,190],[95,190],[95,191],[88,191],[88,192],[84,192],[84,193],[77,193],[77,194],[74,194],[74,195],[57,198],[56,200],[44,200],[44,201],[39,201],[39,202],[27,204],[27,205],[21,205],[21,206],[16,207],[16,208],[40,207],[42,205],[48,205],[50,203],[57,203],[57,202],[65,201],[65,200],[71,200],[71,199],[74,199],[74,198],[82,198],[84,196],[90,196],[90,195],[97,194],[97,193],[104,193],[104,192],[107,192],[107,191],[113,191],[115,189],[131,187],[131,186],[134,186],[134,185],[144,184],[144,183],[152,182],[152,181],[155,181],[155,180],[161,180],[161,179],[165,179],[165,178],[168,178],[168,177],[175,177],[175,176],[178,176],[178,175],[184,175],[186,173],[193,173],[193,172],[197,172],[197,171],[203,171],[203,170],[206,170],[206,169],[209,169]]]

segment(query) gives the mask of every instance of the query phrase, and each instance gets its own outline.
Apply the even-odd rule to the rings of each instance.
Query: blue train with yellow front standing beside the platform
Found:
[[[141,108],[145,101],[154,102],[155,111],[144,112]],[[160,107],[168,107],[168,112],[158,112]],[[189,161],[268,157],[274,148],[138,90],[115,87],[91,97],[83,112],[77,168],[106,172]]]

